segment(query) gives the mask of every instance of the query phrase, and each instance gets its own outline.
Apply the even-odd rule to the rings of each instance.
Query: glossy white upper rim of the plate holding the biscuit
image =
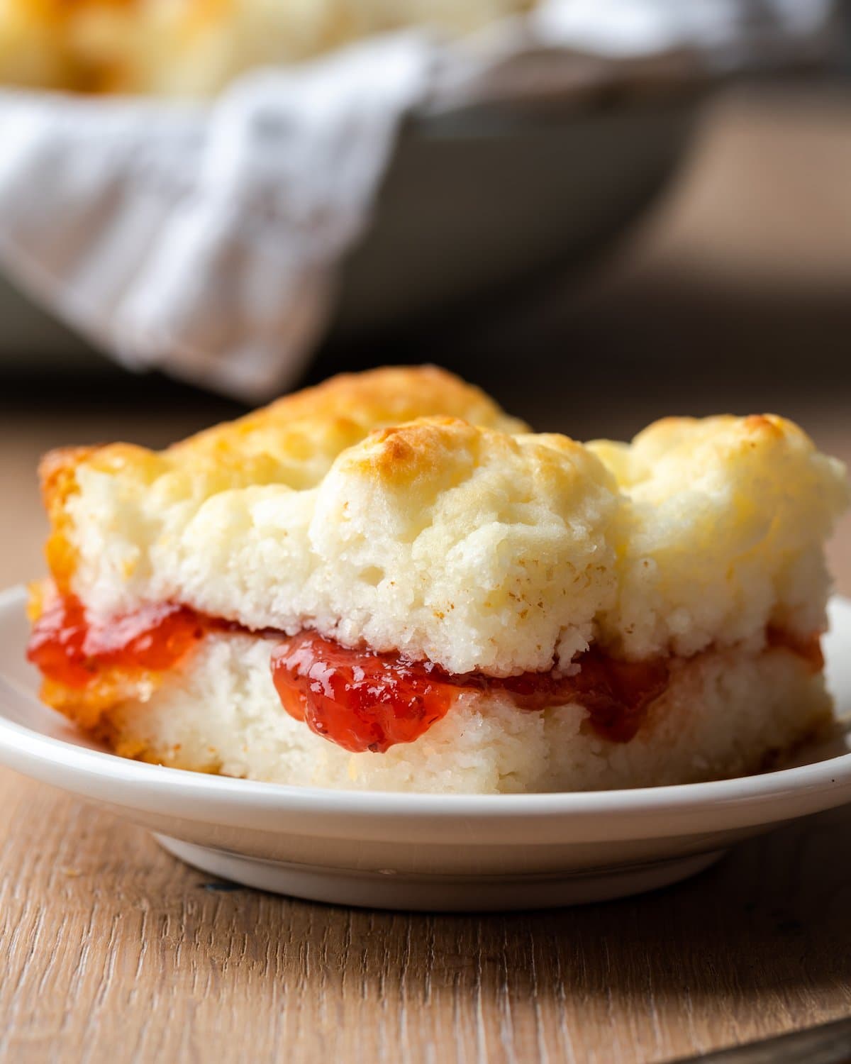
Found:
[[[21,584],[0,591],[0,616],[20,609],[26,597],[27,592]],[[851,599],[834,595],[831,603],[834,610],[846,616],[851,627]],[[851,801],[851,751],[806,765],[728,780],[590,792],[429,794],[239,780],[151,765],[46,735],[9,719],[4,711],[7,699],[24,706],[30,703],[39,708],[44,705],[32,693],[20,689],[18,684],[11,682],[0,670],[0,763],[21,771],[26,771],[20,768],[22,762],[28,765],[59,767],[70,770],[78,777],[93,776],[101,781],[131,785],[134,789],[164,787],[176,799],[228,799],[243,809],[253,807],[282,813],[311,812],[344,817],[351,817],[353,814],[381,814],[383,818],[406,820],[454,820],[460,817],[472,820],[514,819],[531,815],[560,819],[566,816],[598,819],[608,818],[613,814],[640,818],[661,813],[680,816],[705,811],[707,807],[768,805],[792,795],[822,795],[831,789],[841,789],[842,785],[848,788],[848,798],[831,801],[820,808]],[[802,811],[800,815],[805,815],[805,812]]]

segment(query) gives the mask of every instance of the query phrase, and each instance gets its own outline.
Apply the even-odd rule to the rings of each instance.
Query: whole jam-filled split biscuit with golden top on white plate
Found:
[[[53,452],[41,477],[43,697],[128,755],[582,789],[753,770],[830,718],[823,543],[848,485],[774,415],[582,445],[443,370],[380,369],[165,451]],[[282,691],[274,647],[304,633],[307,686]],[[330,717],[299,709],[317,698]],[[388,739],[387,712],[416,734]]]

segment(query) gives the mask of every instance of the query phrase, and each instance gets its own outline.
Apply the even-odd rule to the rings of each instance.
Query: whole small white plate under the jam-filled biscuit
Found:
[[[144,825],[190,864],[250,886],[387,909],[531,909],[673,883],[742,838],[851,801],[845,735],[799,767],[593,794],[362,794],[126,761],[36,698],[24,592],[0,594],[0,762]],[[825,639],[851,711],[851,602]],[[838,751],[838,752],[837,752]]]

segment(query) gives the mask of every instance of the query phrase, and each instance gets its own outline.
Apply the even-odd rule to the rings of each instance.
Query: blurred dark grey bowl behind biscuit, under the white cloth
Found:
[[[664,188],[699,99],[489,104],[412,120],[343,265],[331,338],[412,327],[548,269],[581,268]],[[3,279],[0,316],[0,366],[106,366]]]

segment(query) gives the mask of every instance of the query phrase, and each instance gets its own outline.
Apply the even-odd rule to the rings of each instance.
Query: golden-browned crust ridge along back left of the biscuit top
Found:
[[[70,589],[79,554],[69,512],[88,509],[87,501],[73,501],[81,480],[89,485],[93,504],[99,487],[109,495],[103,504],[120,509],[127,501],[128,514],[150,493],[145,505],[160,508],[155,520],[170,514],[173,523],[224,491],[262,484],[315,487],[334,459],[373,429],[430,414],[507,433],[527,428],[479,388],[423,366],[341,375],[160,452],[132,444],[51,451],[39,472],[52,529],[47,553],[53,578],[62,591]],[[91,516],[97,520],[97,514]],[[86,523],[85,513],[81,523]]]

